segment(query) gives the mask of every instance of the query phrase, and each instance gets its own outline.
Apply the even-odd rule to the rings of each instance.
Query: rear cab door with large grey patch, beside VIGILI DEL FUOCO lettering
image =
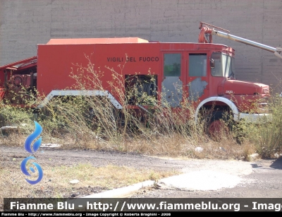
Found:
[[[183,95],[183,52],[163,53],[161,102],[164,106],[180,107]]]

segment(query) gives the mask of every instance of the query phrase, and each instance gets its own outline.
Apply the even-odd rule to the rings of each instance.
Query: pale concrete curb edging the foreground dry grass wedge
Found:
[[[121,187],[118,189],[112,189],[106,192],[101,192],[98,194],[91,194],[85,197],[80,198],[122,198],[122,197],[128,197],[134,192],[136,192],[139,189],[142,189],[143,187],[153,186],[154,181],[147,180],[145,182],[139,182],[137,184],[133,184],[127,187]]]

